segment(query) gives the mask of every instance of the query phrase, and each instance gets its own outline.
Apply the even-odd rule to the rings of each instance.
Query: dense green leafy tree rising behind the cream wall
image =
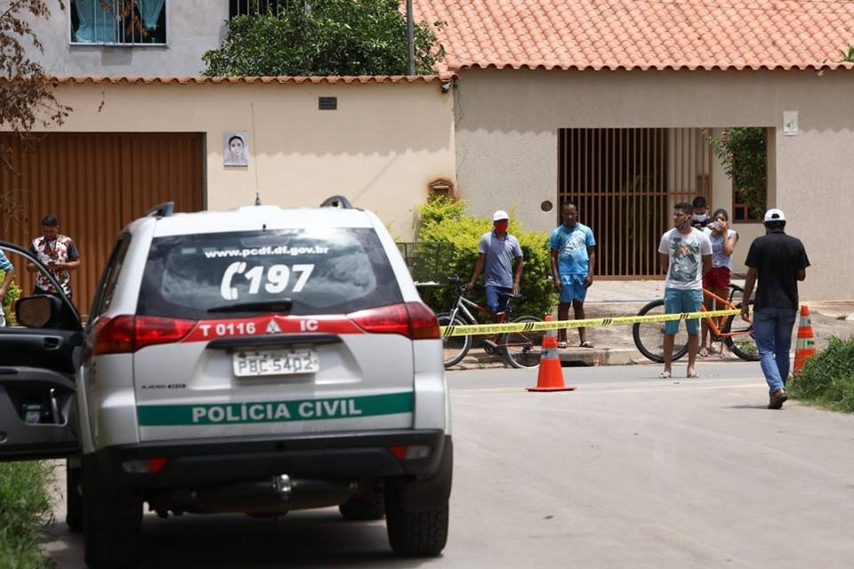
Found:
[[[205,75],[405,75],[407,20],[399,8],[399,0],[323,0],[236,16],[219,49],[202,57]],[[416,23],[416,73],[434,73],[442,56],[433,30]]]

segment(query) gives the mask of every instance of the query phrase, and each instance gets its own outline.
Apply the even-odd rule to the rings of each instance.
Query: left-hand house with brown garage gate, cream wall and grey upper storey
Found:
[[[247,0],[138,3],[143,37],[123,35],[133,26],[110,21],[100,0],[35,20],[41,61],[73,112],[37,132],[32,151],[0,131],[15,150],[0,171],[0,196],[16,205],[2,236],[28,244],[57,215],[84,260],[72,276],[82,313],[119,231],[155,204],[299,207],[342,194],[411,240],[415,205],[453,186],[451,76],[204,77],[201,54]]]

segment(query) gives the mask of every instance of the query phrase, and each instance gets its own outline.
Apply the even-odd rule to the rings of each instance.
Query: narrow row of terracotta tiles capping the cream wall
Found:
[[[60,84],[84,84],[84,83],[129,83],[129,84],[238,84],[238,83],[260,83],[260,84],[335,84],[335,83],[416,83],[423,81],[448,81],[453,78],[453,73],[441,73],[439,75],[395,75],[395,76],[315,76],[315,77],[141,77],[141,76],[56,76],[52,81]]]

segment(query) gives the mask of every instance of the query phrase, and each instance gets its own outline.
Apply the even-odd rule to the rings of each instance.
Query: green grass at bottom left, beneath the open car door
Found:
[[[0,569],[52,567],[38,544],[52,520],[50,462],[0,462]]]

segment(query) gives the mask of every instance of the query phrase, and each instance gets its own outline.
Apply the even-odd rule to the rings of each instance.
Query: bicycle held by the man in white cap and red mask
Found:
[[[507,308],[498,312],[491,312],[479,304],[465,298],[467,287],[461,284],[459,276],[451,276],[448,282],[456,284],[456,302],[450,312],[436,315],[439,326],[463,326],[479,324],[477,318],[472,314],[475,309],[483,314],[495,318],[496,324],[507,324],[512,311],[512,302],[522,298],[521,294],[501,293],[507,299]],[[518,317],[513,323],[542,322],[542,318],[533,316]],[[540,356],[543,351],[543,332],[512,332],[487,335],[483,339],[484,350],[487,354],[501,354],[507,363],[515,368],[531,368],[540,365]],[[444,349],[445,367],[458,364],[471,349],[472,336],[447,336],[442,338]]]

